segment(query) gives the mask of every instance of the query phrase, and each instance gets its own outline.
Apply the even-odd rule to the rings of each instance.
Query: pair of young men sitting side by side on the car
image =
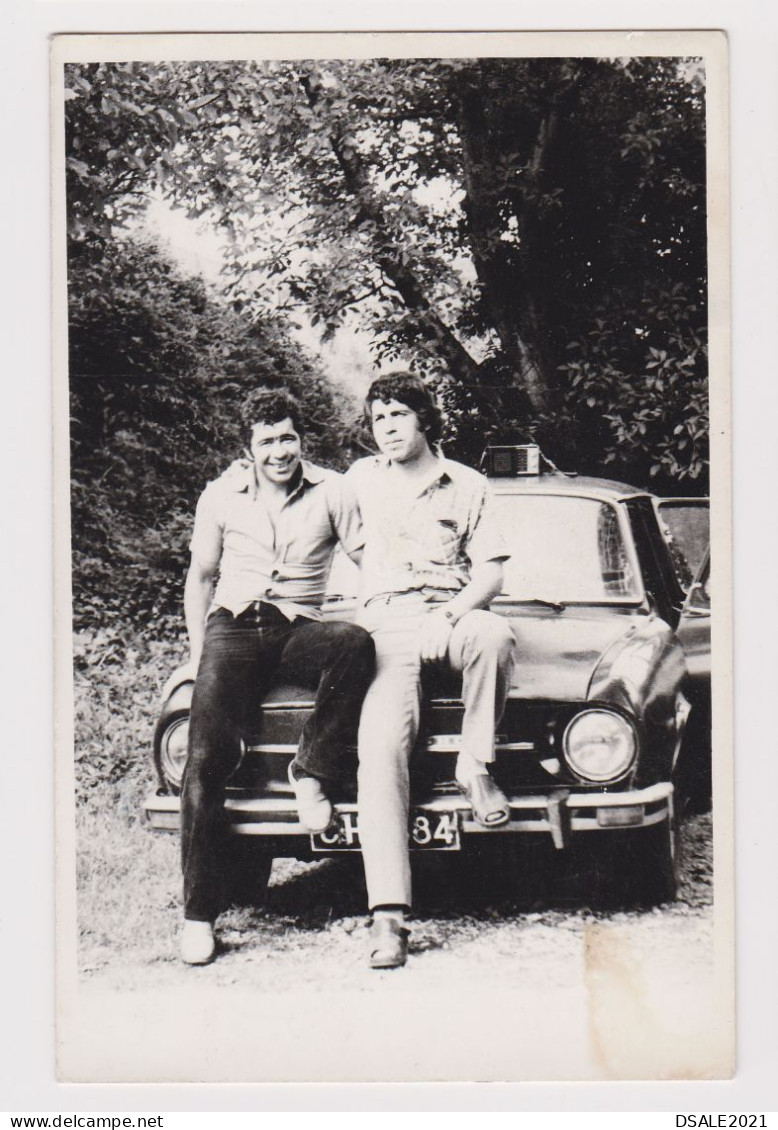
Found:
[[[370,960],[391,968],[407,955],[408,763],[418,732],[422,664],[448,661],[461,672],[457,781],[482,824],[509,818],[487,766],[510,684],[513,637],[504,620],[484,610],[500,592],[507,554],[484,478],[436,453],[440,415],[412,374],[371,385],[366,409],[380,454],[357,461],[343,478],[302,463],[296,411],[263,397],[257,393],[244,416],[253,466],[245,481],[228,476],[206,488],[192,539],[185,610],[193,661],[217,568],[219,583],[205,628],[183,788],[182,957],[201,964],[214,956],[214,844],[247,687],[256,693],[260,672],[267,677],[288,663],[297,677],[320,672],[292,777],[309,827],[331,815],[327,784],[337,776],[338,749],[366,692],[357,799],[373,914]],[[362,567],[356,626],[311,624],[320,615],[336,539]],[[317,627],[320,635],[332,628],[337,640],[319,646]]]

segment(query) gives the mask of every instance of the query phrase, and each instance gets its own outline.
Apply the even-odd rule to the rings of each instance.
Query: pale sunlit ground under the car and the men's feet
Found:
[[[178,877],[178,840],[166,837],[165,846]],[[208,967],[181,965],[168,941],[163,951],[141,962],[128,960],[126,953],[111,960],[103,948],[87,957],[83,970],[87,977],[116,988],[139,980],[189,984],[197,979],[211,984],[240,981],[274,991],[310,982],[317,991],[337,982],[365,989],[397,979],[446,983],[464,971],[468,979],[491,977],[499,963],[503,983],[529,976],[535,984],[560,985],[580,976],[581,951],[590,945],[593,930],[616,928],[636,951],[654,951],[657,968],[677,965],[678,971],[695,971],[710,959],[709,816],[684,824],[677,899],[649,910],[597,905],[590,886],[585,887],[586,876],[565,877],[555,868],[553,849],[545,845],[541,851],[530,845],[526,859],[515,861],[521,870],[515,875],[490,876],[489,863],[463,868],[457,853],[427,855],[418,864],[409,960],[401,973],[375,972],[366,965],[368,918],[358,857],[315,863],[276,859],[266,904],[233,907],[221,916],[219,956]]]

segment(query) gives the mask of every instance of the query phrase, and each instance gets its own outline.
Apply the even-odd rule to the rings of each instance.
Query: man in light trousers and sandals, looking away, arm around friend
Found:
[[[440,414],[426,385],[410,373],[381,377],[365,408],[380,455],[346,473],[365,537],[358,623],[377,651],[360,722],[360,841],[373,913],[371,965],[392,968],[407,953],[408,760],[422,666],[447,661],[463,675],[457,782],[475,819],[494,827],[510,818],[489,765],[515,641],[508,621],[485,610],[508,557],[486,480],[438,453]]]

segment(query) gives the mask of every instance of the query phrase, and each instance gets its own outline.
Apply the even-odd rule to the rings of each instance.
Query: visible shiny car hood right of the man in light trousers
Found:
[[[638,635],[647,620],[621,609],[511,612],[517,641],[511,697],[585,702],[605,652]]]

